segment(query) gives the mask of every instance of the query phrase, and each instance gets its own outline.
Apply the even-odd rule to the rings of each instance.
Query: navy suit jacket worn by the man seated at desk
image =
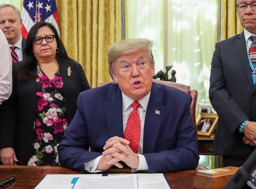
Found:
[[[199,155],[197,133],[190,114],[191,100],[189,94],[179,89],[153,82],[143,136],[148,172],[197,167]],[[160,114],[155,114],[155,110]],[[58,146],[59,163],[85,171],[84,163],[102,155],[105,142],[113,136],[123,138],[119,86],[110,83],[84,91],[77,99],[75,117]]]

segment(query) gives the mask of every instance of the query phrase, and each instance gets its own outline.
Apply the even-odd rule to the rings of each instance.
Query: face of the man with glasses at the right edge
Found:
[[[254,3],[256,0],[240,0],[238,4]],[[253,10],[250,5],[244,11],[237,9],[238,17],[241,25],[249,32],[256,34],[256,10]]]

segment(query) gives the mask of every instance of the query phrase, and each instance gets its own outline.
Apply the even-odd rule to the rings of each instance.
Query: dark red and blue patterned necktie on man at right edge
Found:
[[[248,52],[248,60],[249,65],[251,68],[252,80],[253,84],[256,83],[256,36],[251,37],[252,44],[250,45],[249,52]]]

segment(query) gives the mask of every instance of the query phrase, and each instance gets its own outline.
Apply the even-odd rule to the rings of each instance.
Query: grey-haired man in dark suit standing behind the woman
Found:
[[[10,4],[0,5],[0,29],[4,32],[12,53],[13,63],[25,59],[26,39],[21,36],[22,19],[17,7]]]

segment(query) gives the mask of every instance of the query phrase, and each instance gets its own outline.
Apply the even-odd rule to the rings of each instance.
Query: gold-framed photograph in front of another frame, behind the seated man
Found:
[[[209,136],[213,135],[218,121],[218,114],[214,113],[200,113],[197,116],[197,134],[198,136]]]

